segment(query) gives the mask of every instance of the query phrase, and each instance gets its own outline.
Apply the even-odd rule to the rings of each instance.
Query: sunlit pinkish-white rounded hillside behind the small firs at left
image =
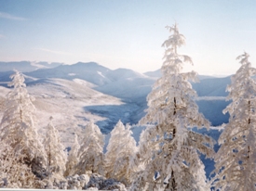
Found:
[[[0,113],[2,116],[5,95],[9,89],[1,86],[0,88]],[[74,132],[80,134],[90,119],[104,121],[104,124],[101,125],[102,132],[108,133],[106,131],[109,129],[108,119],[93,115],[86,107],[97,108],[108,105],[121,107],[124,105],[118,98],[103,95],[87,85],[63,79],[37,80],[34,83],[29,83],[27,89],[29,94],[35,98],[34,106],[38,127],[46,127],[49,117],[52,116],[53,123],[61,131],[62,140],[67,142],[67,145],[70,142],[68,140],[71,137],[70,134],[74,134]]]

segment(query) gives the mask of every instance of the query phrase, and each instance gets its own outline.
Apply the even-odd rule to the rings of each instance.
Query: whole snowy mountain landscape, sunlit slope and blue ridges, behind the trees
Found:
[[[47,63],[39,63],[47,66]],[[24,64],[23,70],[28,70],[28,66],[31,67],[31,63]],[[0,72],[1,86],[7,87],[12,73],[13,71]],[[105,134],[112,130],[119,119],[136,124],[143,117],[143,110],[147,108],[146,96],[161,75],[160,70],[144,74],[128,69],[110,70],[95,62],[78,62],[52,69],[37,68],[24,74],[29,92],[36,98],[38,110],[43,108],[40,114],[44,115],[45,112],[54,115],[54,121],[60,122],[59,127],[62,125],[62,118],[67,121],[74,118],[74,125],[69,124],[68,128],[84,126],[83,122],[94,116]],[[223,115],[222,109],[228,104],[225,101],[225,87],[230,83],[230,77],[199,76],[199,79],[200,83],[193,83],[199,96],[196,99],[199,111],[214,126],[227,122],[228,115]],[[1,92],[3,99],[5,91]],[[48,116],[41,117],[39,123],[45,125],[47,118]],[[68,122],[63,127],[67,124]]]

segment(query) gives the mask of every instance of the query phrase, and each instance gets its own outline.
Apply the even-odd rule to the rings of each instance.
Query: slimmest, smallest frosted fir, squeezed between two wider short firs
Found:
[[[77,165],[78,159],[78,150],[80,145],[77,140],[77,135],[74,134],[74,143],[71,146],[71,150],[69,151],[68,160],[66,163],[66,172],[64,173],[65,176],[73,175],[74,167]]]

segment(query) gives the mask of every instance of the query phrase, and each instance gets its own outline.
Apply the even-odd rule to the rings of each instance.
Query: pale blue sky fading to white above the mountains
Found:
[[[232,74],[243,51],[256,67],[256,0],[0,0],[0,61],[157,70],[175,21],[187,70]]]

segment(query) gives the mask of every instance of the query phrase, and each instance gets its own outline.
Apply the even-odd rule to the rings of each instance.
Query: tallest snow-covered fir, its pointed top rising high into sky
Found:
[[[142,134],[145,140],[140,141],[144,146],[140,155],[146,166],[131,190],[207,190],[204,165],[197,151],[210,158],[214,153],[213,141],[191,128],[209,127],[209,121],[195,104],[196,93],[190,83],[196,81],[195,71],[182,72],[183,63],[192,64],[190,57],[178,54],[178,48],[185,43],[184,36],[177,24],[167,29],[171,34],[163,44],[163,76],[147,96],[147,114],[140,121],[155,126]],[[153,143],[146,147],[147,142]],[[145,159],[143,153],[150,158]]]

